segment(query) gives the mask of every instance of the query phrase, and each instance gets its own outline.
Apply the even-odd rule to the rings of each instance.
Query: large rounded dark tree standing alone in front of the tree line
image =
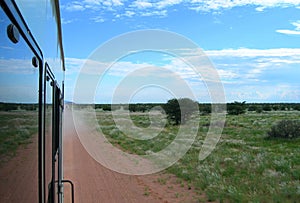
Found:
[[[198,110],[198,103],[189,99],[170,99],[164,105],[164,110],[170,121],[174,121],[175,125],[185,124],[193,112]]]

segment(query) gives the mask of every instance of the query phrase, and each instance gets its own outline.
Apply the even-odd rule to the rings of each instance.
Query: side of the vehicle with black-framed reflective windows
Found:
[[[0,4],[0,202],[63,202],[59,2]]]

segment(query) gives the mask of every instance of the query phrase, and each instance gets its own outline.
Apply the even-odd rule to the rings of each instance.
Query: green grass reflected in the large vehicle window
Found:
[[[0,112],[0,159],[14,156],[21,145],[30,143],[37,133],[36,111]]]

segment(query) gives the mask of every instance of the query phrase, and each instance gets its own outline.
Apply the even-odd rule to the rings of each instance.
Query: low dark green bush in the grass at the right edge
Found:
[[[273,125],[268,131],[269,138],[297,138],[300,137],[300,120],[282,120]]]

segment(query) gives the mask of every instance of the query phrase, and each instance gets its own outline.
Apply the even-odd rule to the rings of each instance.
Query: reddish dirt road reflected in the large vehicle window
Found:
[[[0,202],[38,202],[37,136],[0,165]]]

